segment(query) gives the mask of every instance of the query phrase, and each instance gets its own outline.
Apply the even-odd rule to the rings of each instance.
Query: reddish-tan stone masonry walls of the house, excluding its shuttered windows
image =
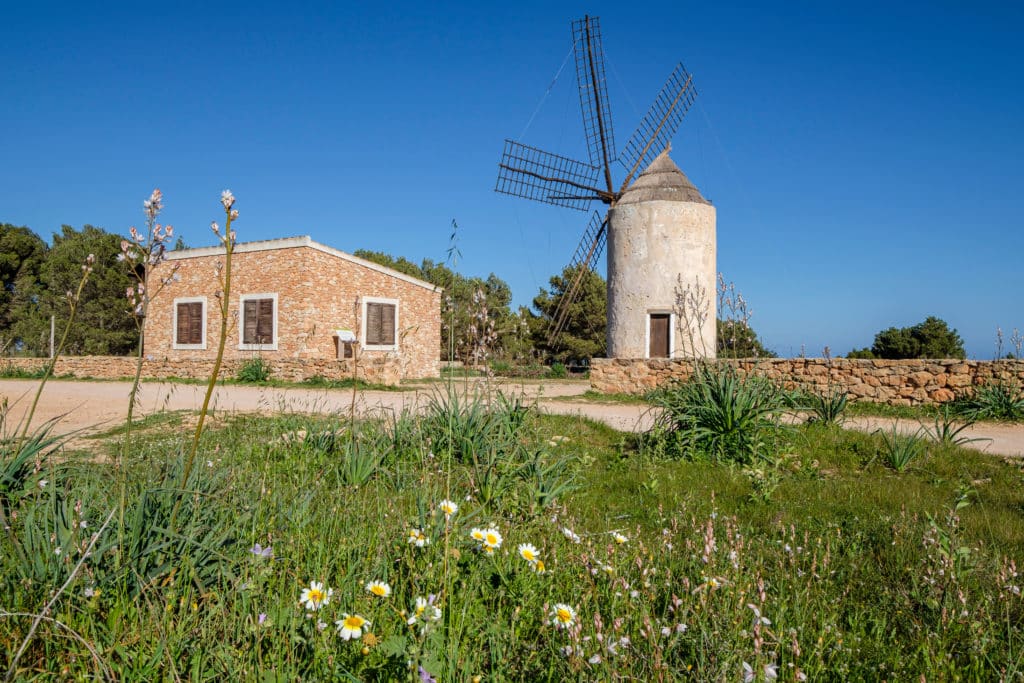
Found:
[[[259,355],[282,372],[298,375],[321,374],[325,377],[342,372],[348,365],[337,361],[336,330],[351,330],[361,339],[362,299],[381,297],[397,300],[398,343],[395,350],[359,348],[360,368],[393,368],[401,378],[437,377],[440,372],[440,291],[389,274],[379,266],[366,264],[355,257],[342,258],[322,248],[308,246],[305,238],[283,241],[280,248],[259,243],[239,245],[231,261],[229,328],[225,358],[244,360]],[[270,244],[270,243],[268,243]],[[315,243],[312,243],[315,245]],[[212,360],[216,355],[220,332],[220,309],[215,276],[222,263],[222,250],[196,250],[201,255],[184,257],[187,251],[174,254],[153,272],[166,276],[172,264],[178,264],[178,281],[168,285],[150,307],[145,328],[145,355],[166,367],[181,367]],[[214,253],[219,252],[219,253]],[[153,282],[153,281],[151,281]],[[276,295],[276,349],[240,348],[239,310],[243,295]],[[175,299],[205,298],[207,312],[205,346],[199,349],[174,348]],[[323,372],[307,372],[318,361]],[[285,368],[295,368],[294,372]],[[157,368],[157,366],[154,366]],[[154,372],[157,372],[156,370]],[[392,372],[392,371],[388,371]],[[203,375],[197,370],[193,375]],[[183,373],[174,373],[185,376]],[[361,373],[360,373],[361,375]]]

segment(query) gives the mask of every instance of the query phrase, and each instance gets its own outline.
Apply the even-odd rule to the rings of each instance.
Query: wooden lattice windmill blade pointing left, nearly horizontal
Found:
[[[598,172],[590,164],[505,140],[495,191],[587,211],[602,196],[594,186]]]

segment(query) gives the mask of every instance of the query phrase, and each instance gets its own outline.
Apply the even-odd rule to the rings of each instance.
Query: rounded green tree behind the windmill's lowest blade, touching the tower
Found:
[[[572,286],[580,267],[583,266],[566,266],[561,274],[551,278],[548,291],[541,290],[534,298],[534,308],[539,315],[530,315],[527,325],[534,346],[551,361],[582,362],[603,357],[607,349],[607,288],[604,279],[590,269],[583,275],[580,294],[569,306],[564,331],[553,346],[548,344],[551,318]]]

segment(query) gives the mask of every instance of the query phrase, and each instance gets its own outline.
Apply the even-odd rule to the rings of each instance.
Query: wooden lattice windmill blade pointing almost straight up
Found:
[[[575,52],[577,84],[580,86],[580,110],[583,113],[590,163],[604,168],[615,159],[615,135],[604,76],[601,27],[596,16],[585,16],[572,23],[572,45]],[[608,190],[611,190],[610,186]]]

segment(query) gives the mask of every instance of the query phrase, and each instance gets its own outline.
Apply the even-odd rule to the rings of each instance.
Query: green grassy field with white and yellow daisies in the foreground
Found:
[[[927,444],[898,471],[882,436],[822,425],[738,464],[441,397],[358,424],[236,416],[184,487],[187,415],[138,425],[123,462],[96,439],[103,465],[8,439],[9,676],[1022,676],[1014,465]]]

